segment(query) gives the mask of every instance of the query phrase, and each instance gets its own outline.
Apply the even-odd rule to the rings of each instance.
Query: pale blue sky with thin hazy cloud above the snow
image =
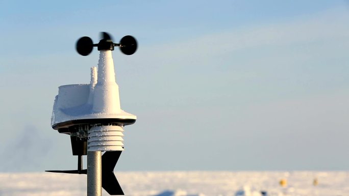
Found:
[[[88,83],[79,37],[113,52],[125,128],[116,170],[348,170],[346,1],[1,1],[0,171],[75,169],[50,126],[58,86]]]

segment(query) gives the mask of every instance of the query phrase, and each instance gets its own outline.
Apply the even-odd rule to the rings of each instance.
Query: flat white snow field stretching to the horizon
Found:
[[[349,195],[349,172],[117,172],[125,195]],[[314,179],[318,185],[313,185]],[[281,179],[287,186],[281,187]],[[86,175],[1,173],[0,195],[86,195]],[[103,191],[103,195],[109,195]]]

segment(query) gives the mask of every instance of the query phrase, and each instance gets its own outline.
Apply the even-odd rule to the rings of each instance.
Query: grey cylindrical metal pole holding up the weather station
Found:
[[[87,196],[102,196],[102,152],[87,152]]]

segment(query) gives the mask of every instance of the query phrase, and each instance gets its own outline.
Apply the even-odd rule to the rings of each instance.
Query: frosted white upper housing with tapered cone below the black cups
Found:
[[[96,67],[91,68],[90,84],[60,86],[51,125],[80,119],[134,119],[120,107],[111,50],[101,50]]]

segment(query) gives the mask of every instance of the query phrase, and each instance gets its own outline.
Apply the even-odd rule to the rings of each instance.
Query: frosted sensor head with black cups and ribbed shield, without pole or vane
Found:
[[[98,44],[92,44],[87,38],[78,41],[77,50],[87,55],[93,46],[98,46],[98,69],[91,68],[89,84],[58,88],[51,125],[60,133],[70,134],[73,155],[85,155],[86,152],[80,151],[86,148],[88,151],[122,151],[123,126],[135,123],[137,118],[120,107],[112,50],[119,46],[123,53],[132,54],[135,51],[132,43],[136,45],[136,42],[133,37],[125,36],[120,44],[114,44],[105,33]],[[80,51],[79,42],[82,42]]]

